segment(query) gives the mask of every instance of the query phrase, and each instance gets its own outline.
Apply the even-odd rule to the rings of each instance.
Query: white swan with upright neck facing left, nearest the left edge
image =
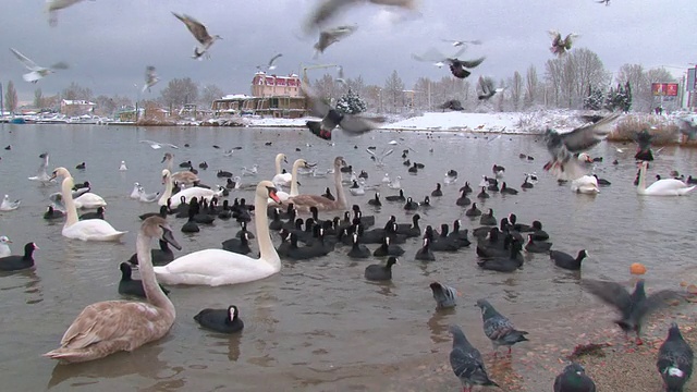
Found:
[[[82,241],[120,241],[127,232],[115,230],[109,222],[101,219],[77,220],[77,209],[73,201],[71,189],[74,185],[73,177],[65,168],[53,170],[53,177],[63,176],[61,193],[65,204],[65,224],[62,234],[69,238]],[[84,195],[83,195],[84,196]]]

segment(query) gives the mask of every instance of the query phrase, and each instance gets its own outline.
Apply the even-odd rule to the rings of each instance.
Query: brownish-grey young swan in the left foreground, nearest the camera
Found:
[[[44,356],[66,363],[87,362],[120,351],[134,351],[167,334],[176,310],[155,278],[150,256],[152,238],[182,248],[161,217],[150,217],[140,225],[136,253],[147,302],[105,301],[85,307],[63,334],[61,346]]]

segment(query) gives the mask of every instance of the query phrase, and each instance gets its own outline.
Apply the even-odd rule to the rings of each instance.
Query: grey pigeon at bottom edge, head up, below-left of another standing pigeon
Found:
[[[484,367],[484,359],[481,359],[481,353],[469,344],[462,329],[457,326],[450,326],[450,333],[453,335],[450,366],[460,379],[464,392],[470,392],[474,385],[499,387],[496,382],[489,380],[487,369]]]

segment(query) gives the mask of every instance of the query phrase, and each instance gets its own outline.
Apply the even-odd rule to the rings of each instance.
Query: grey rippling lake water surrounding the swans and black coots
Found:
[[[10,130],[12,134],[8,133]],[[15,147],[12,154],[3,155],[0,176],[7,188],[13,189],[13,197],[22,199],[16,211],[0,213],[0,235],[8,235],[15,244],[34,241],[41,247],[35,254],[35,270],[0,275],[3,326],[0,372],[7,380],[3,387],[13,391],[39,391],[47,387],[73,390],[80,385],[84,385],[83,390],[120,390],[125,384],[143,391],[258,391],[264,383],[270,385],[269,390],[382,390],[386,377],[403,379],[447,365],[451,346],[447,329],[451,323],[463,326],[473,344],[484,348],[482,353],[488,352],[481,315],[474,307],[477,298],[488,298],[516,324],[525,326],[530,335],[566,342],[570,326],[584,329],[584,323],[590,322],[558,316],[573,315],[577,307],[587,309],[594,304],[577,284],[582,275],[627,281],[628,265],[639,261],[649,271],[647,284],[662,289],[674,284],[676,277],[684,275],[686,270],[694,270],[697,229],[687,222],[697,219],[697,195],[670,199],[637,197],[632,186],[634,162],[617,156],[611,145],[602,143],[591,155],[608,162],[599,163],[598,168],[607,169],[603,177],[612,185],[595,197],[587,197],[572,193],[567,185],[559,186],[542,172],[540,167],[547,151],[535,137],[501,137],[487,144],[484,137],[467,134],[438,136],[376,132],[346,140],[338,134],[335,145],[329,146],[298,130],[0,125],[0,139]],[[220,183],[216,177],[219,169],[236,174],[242,167],[255,163],[259,164],[259,174],[245,181],[270,179],[278,152],[285,152],[289,162],[306,158],[317,161],[322,169],[342,155],[357,172],[369,173],[367,185],[380,185],[384,173],[401,175],[406,196],[415,200],[430,195],[449,169],[457,170],[458,183],[443,186],[444,195],[432,197],[431,208],[417,211],[423,217],[421,228],[452,224],[455,219],[462,220],[463,230],[478,226],[478,220],[464,219],[466,208],[455,206],[457,188],[464,181],[477,184],[482,174],[491,172],[493,162],[506,168],[504,180],[512,187],[519,187],[523,173],[538,172],[540,180],[535,188],[511,197],[492,194],[482,207],[492,208],[498,219],[515,212],[523,223],[540,220],[554,249],[575,254],[586,248],[591,256],[584,260],[582,272],[559,269],[542,254],[526,255],[524,268],[514,273],[496,273],[477,267],[474,244],[454,254],[437,253],[433,262],[416,261],[414,255],[421,244],[418,238],[411,238],[401,245],[405,254],[393,269],[392,281],[380,283],[364,278],[365,267],[379,262],[377,259],[351,260],[345,255],[348,247],[338,246],[334,253],[316,260],[283,261],[281,273],[260,282],[225,287],[172,287],[170,298],[178,318],[163,340],[95,363],[57,366],[39,355],[59,344],[65,328],[86,305],[120,298],[118,268],[135,252],[140,223],[137,216],[157,210],[154,205],[129,198],[134,182],[148,192],[161,189],[163,150],[152,150],[139,144],[139,139],[182,146],[171,150],[175,162],[206,160],[210,169],[199,170],[199,176],[210,185]],[[417,175],[407,175],[401,154],[393,154],[386,158],[383,168],[376,168],[365,149],[368,146],[381,149],[391,139],[400,140],[394,146],[396,151],[412,148],[409,158],[423,162],[425,169]],[[266,142],[273,144],[266,146]],[[313,147],[307,147],[307,143]],[[184,144],[191,147],[183,147]],[[221,148],[215,149],[212,145]],[[354,149],[354,145],[358,148]],[[243,149],[232,157],[223,156],[223,150],[234,146]],[[427,152],[430,148],[433,154]],[[90,181],[93,192],[105,197],[107,220],[114,228],[129,231],[121,243],[66,240],[61,235],[61,222],[41,218],[48,195],[59,191],[58,184],[45,186],[26,180],[34,174],[42,151],[50,152],[53,167],[87,163],[86,170],[74,171],[75,180]],[[521,160],[521,152],[537,159]],[[615,158],[620,164],[611,167],[609,162]],[[126,161],[129,171],[119,172],[121,160]],[[687,175],[697,167],[695,163],[694,151],[667,149],[665,156],[651,164],[650,175],[665,175],[673,169]],[[331,179],[303,176],[301,183],[302,192],[321,194],[326,186],[331,186]],[[380,193],[396,194],[384,186]],[[381,208],[369,208],[367,200],[372,196],[372,192],[366,192],[363,197],[347,195],[347,199],[350,205],[358,204],[367,215],[375,215],[376,226],[382,226],[390,215],[399,223],[411,223],[414,212],[404,211],[401,203],[383,200]],[[230,198],[234,197],[252,200],[253,193],[233,191]],[[334,215],[339,213],[320,213],[320,218],[331,219]],[[184,245],[182,255],[218,248],[222,240],[240,230],[234,220],[217,220],[213,225],[201,226],[200,233],[186,237],[179,231],[185,220],[173,217],[169,220]],[[255,230],[254,224],[249,230]],[[278,244],[276,235],[274,243]],[[252,246],[257,246],[256,242]],[[13,246],[13,254],[19,249]],[[435,310],[429,289],[432,281],[447,281],[462,292],[455,309]],[[240,308],[245,322],[240,334],[210,333],[193,320],[203,308],[225,308],[232,304]],[[540,313],[546,314],[543,328],[538,326]],[[508,364],[496,365],[497,368],[490,366],[490,372],[504,382],[516,379],[522,372],[521,357],[533,348],[531,344],[516,345],[514,357]],[[37,376],[26,377],[26,369]],[[454,389],[456,379],[452,373],[447,379],[451,382],[444,390]]]

